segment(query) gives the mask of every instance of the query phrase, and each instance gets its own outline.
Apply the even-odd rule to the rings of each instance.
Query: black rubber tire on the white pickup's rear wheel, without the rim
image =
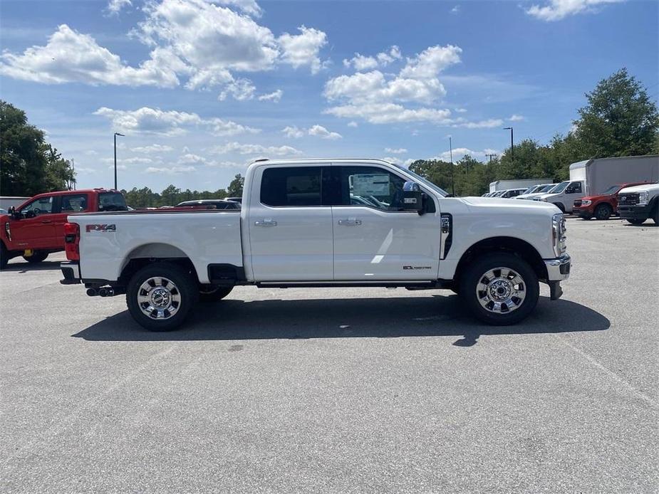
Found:
[[[170,291],[170,298],[173,300],[175,297],[180,300],[177,305],[162,310],[165,315],[162,318],[150,317],[142,312],[142,305],[137,300],[138,295],[146,296],[148,293],[142,289],[142,284],[146,283],[151,278],[167,278],[170,280],[174,289]],[[170,285],[171,286],[171,285]],[[151,289],[162,288],[158,285],[153,285]],[[126,288],[126,305],[133,319],[142,327],[150,331],[171,331],[182,325],[185,318],[194,308],[194,305],[199,299],[199,290],[197,280],[194,279],[190,270],[182,268],[177,264],[172,263],[153,263],[140,269],[130,278],[128,287]],[[168,310],[172,312],[176,310],[173,315],[167,316]],[[147,310],[147,308],[145,308]],[[152,311],[152,313],[155,311]]]

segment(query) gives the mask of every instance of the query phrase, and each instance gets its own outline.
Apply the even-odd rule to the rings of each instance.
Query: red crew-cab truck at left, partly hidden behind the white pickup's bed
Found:
[[[64,224],[69,214],[127,210],[124,196],[112,189],[38,194],[0,216],[0,268],[14,257],[40,263],[48,254],[63,251]]]

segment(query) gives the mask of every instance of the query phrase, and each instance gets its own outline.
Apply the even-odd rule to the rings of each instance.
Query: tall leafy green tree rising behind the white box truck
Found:
[[[623,68],[601,80],[588,104],[578,110],[576,138],[587,158],[635,156],[656,151],[659,132],[657,105],[643,85]]]

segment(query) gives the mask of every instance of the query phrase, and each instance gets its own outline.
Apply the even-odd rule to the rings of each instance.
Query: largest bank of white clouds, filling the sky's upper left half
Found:
[[[116,13],[129,4],[111,0],[108,11]],[[220,99],[249,100],[254,97],[254,84],[234,73],[272,70],[280,63],[309,65],[315,73],[322,65],[320,50],[327,43],[323,31],[301,26],[298,35],[284,33],[276,38],[250,17],[261,14],[254,0],[149,0],[141,11],[145,17],[130,34],[151,51],[137,66],[62,24],[45,46],[32,46],[23,53],[5,51],[0,73],[50,84],[175,88],[183,80],[190,90],[219,88]]]

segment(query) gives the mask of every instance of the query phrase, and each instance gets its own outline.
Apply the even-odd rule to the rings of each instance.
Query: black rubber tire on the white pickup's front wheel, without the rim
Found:
[[[477,287],[482,278],[484,278],[484,275],[488,273],[489,270],[494,270],[494,272],[496,272],[497,268],[507,268],[510,270],[509,273],[519,275],[523,282],[518,284],[520,288],[523,285],[523,300],[519,305],[507,312],[492,312],[491,310],[484,308],[479,300],[485,300],[486,297],[479,297],[479,294],[477,293]],[[499,275],[505,277],[503,270],[499,272]],[[524,318],[534,310],[538,303],[539,295],[540,287],[538,276],[535,271],[529,266],[529,263],[522,258],[514,256],[514,254],[484,254],[475,261],[472,261],[472,263],[469,263],[469,266],[465,272],[462,273],[460,279],[460,297],[467,310],[479,320],[489,325],[508,326],[517,324],[517,322],[524,320]],[[504,304],[502,303],[501,305],[503,306]]]

